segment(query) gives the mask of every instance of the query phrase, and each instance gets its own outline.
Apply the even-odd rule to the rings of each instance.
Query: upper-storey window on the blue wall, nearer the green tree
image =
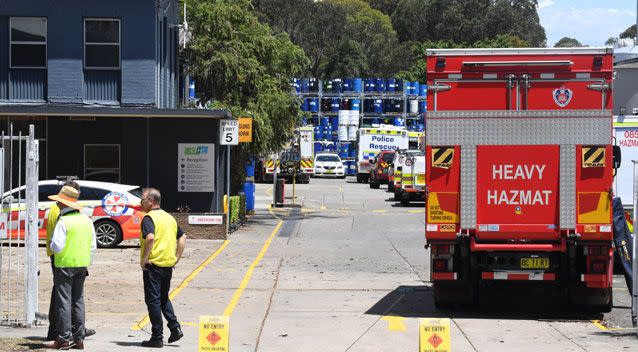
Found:
[[[120,20],[85,19],[84,68],[101,70],[119,69],[120,34]]]

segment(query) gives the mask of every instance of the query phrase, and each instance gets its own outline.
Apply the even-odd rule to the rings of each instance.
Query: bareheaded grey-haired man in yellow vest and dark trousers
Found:
[[[181,326],[168,298],[173,267],[179,262],[186,246],[186,235],[177,221],[160,208],[162,196],[154,188],[142,191],[141,206],[146,216],[142,220],[140,238],[140,267],[144,278],[144,300],[151,320],[151,338],[143,347],[163,347],[162,314],[166,317],[171,335],[168,343],[181,339]]]

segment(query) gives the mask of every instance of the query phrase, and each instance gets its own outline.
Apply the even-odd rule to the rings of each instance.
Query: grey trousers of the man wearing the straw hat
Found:
[[[58,341],[84,340],[84,280],[86,268],[55,268]]]

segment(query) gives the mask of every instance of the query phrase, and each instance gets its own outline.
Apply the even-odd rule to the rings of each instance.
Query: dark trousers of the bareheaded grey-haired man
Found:
[[[173,305],[168,299],[171,288],[173,268],[161,268],[148,265],[144,270],[144,301],[148,308],[148,317],[152,325],[152,340],[162,340],[164,329],[162,327],[162,314],[168,322],[168,328],[174,330],[180,327],[173,311]]]

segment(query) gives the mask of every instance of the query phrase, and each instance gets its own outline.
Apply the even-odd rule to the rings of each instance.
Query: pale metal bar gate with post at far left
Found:
[[[38,141],[2,131],[0,324],[32,326],[38,307]]]

